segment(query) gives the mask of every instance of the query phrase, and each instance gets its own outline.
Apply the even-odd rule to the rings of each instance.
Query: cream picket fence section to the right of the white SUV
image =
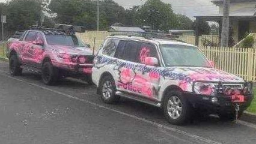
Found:
[[[256,82],[256,50],[234,47],[200,47],[215,68]]]

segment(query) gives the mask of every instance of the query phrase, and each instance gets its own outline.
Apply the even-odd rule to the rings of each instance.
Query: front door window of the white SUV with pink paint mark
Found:
[[[156,47],[153,44],[141,44],[138,53],[138,62],[144,64],[146,57],[154,57],[158,59]]]

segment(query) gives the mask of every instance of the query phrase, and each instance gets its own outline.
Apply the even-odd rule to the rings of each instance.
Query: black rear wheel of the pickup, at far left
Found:
[[[13,76],[20,76],[22,74],[22,68],[20,68],[19,60],[16,55],[11,55],[9,59],[9,71]]]

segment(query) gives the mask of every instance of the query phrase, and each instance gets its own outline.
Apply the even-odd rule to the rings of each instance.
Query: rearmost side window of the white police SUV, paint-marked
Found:
[[[118,43],[119,43],[119,40],[115,40],[115,39],[107,40],[102,49],[102,53],[104,55],[114,57],[115,51],[117,50]]]

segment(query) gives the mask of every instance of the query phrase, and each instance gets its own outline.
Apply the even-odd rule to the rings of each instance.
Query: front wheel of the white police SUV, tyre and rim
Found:
[[[163,113],[169,123],[183,125],[190,120],[192,107],[179,91],[169,91],[163,99]]]

